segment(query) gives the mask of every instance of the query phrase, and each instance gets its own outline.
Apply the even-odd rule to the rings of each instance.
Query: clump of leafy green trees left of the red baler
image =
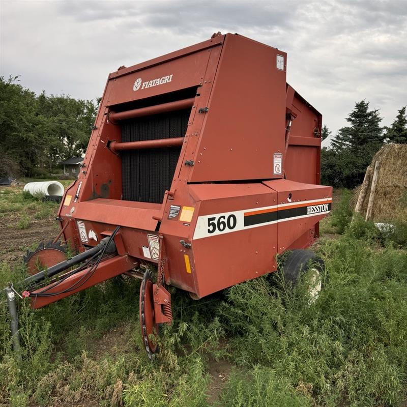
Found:
[[[0,176],[46,175],[62,160],[83,154],[98,103],[37,96],[18,81],[0,77]]]

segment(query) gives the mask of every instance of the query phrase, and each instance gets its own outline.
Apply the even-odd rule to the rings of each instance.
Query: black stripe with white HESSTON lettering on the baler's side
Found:
[[[332,203],[316,203],[315,205],[307,205],[299,208],[281,209],[274,212],[258,213],[255,215],[246,215],[244,217],[244,225],[258,225],[261,223],[267,223],[276,221],[278,219],[296,218],[304,215],[318,215],[330,211]]]

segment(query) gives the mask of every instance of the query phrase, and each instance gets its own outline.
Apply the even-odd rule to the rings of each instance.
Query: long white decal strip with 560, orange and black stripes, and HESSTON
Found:
[[[193,239],[202,239],[293,219],[326,215],[331,211],[331,205],[332,198],[324,198],[283,203],[265,208],[203,215],[198,217]]]

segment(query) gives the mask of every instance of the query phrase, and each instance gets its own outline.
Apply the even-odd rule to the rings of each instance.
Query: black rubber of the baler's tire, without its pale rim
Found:
[[[295,249],[289,251],[283,260],[284,280],[294,286],[298,283],[301,275],[311,268],[316,268],[320,274],[323,274],[325,272],[325,261],[312,250]]]

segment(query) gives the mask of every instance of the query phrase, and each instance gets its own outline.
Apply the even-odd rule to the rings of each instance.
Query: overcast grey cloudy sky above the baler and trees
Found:
[[[389,125],[407,104],[407,2],[0,0],[0,75],[75,98],[109,72],[239,33],[286,51],[287,81],[336,132],[366,99]]]

